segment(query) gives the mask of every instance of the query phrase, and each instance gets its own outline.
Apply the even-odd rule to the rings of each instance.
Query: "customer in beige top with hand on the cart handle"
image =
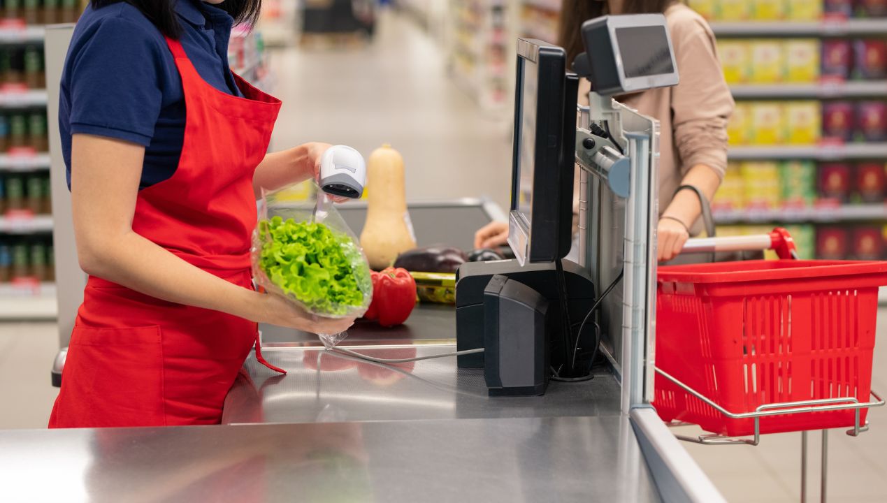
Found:
[[[657,249],[659,261],[671,260],[701,228],[702,207],[687,185],[711,200],[726,170],[726,122],[734,101],[718,61],[715,37],[699,14],[673,0],[563,0],[561,12],[560,45],[567,50],[568,61],[585,51],[580,34],[585,20],[605,14],[665,15],[680,83],[617,99],[660,122]],[[590,83],[582,83],[579,99],[587,105]],[[508,225],[493,222],[476,232],[475,248],[496,248],[507,237]]]

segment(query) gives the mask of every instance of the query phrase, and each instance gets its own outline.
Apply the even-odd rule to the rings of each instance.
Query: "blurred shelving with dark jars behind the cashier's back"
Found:
[[[79,0],[4,2],[0,20],[0,319],[54,318],[45,26]]]

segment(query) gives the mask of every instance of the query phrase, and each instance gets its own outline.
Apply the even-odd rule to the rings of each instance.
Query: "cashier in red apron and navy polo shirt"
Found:
[[[335,334],[253,290],[261,188],[313,177],[329,145],[267,153],[280,108],[228,66],[260,0],[91,0],[59,126],[89,273],[51,428],[212,424],[256,322]]]

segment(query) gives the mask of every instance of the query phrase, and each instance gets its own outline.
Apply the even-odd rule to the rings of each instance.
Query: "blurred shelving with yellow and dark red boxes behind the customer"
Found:
[[[689,4],[737,104],[718,232],[788,225],[806,258],[887,258],[887,4]]]

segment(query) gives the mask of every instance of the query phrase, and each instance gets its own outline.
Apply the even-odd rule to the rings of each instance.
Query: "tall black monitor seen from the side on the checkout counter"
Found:
[[[508,244],[521,264],[561,259],[572,241],[578,77],[566,59],[518,40]]]

